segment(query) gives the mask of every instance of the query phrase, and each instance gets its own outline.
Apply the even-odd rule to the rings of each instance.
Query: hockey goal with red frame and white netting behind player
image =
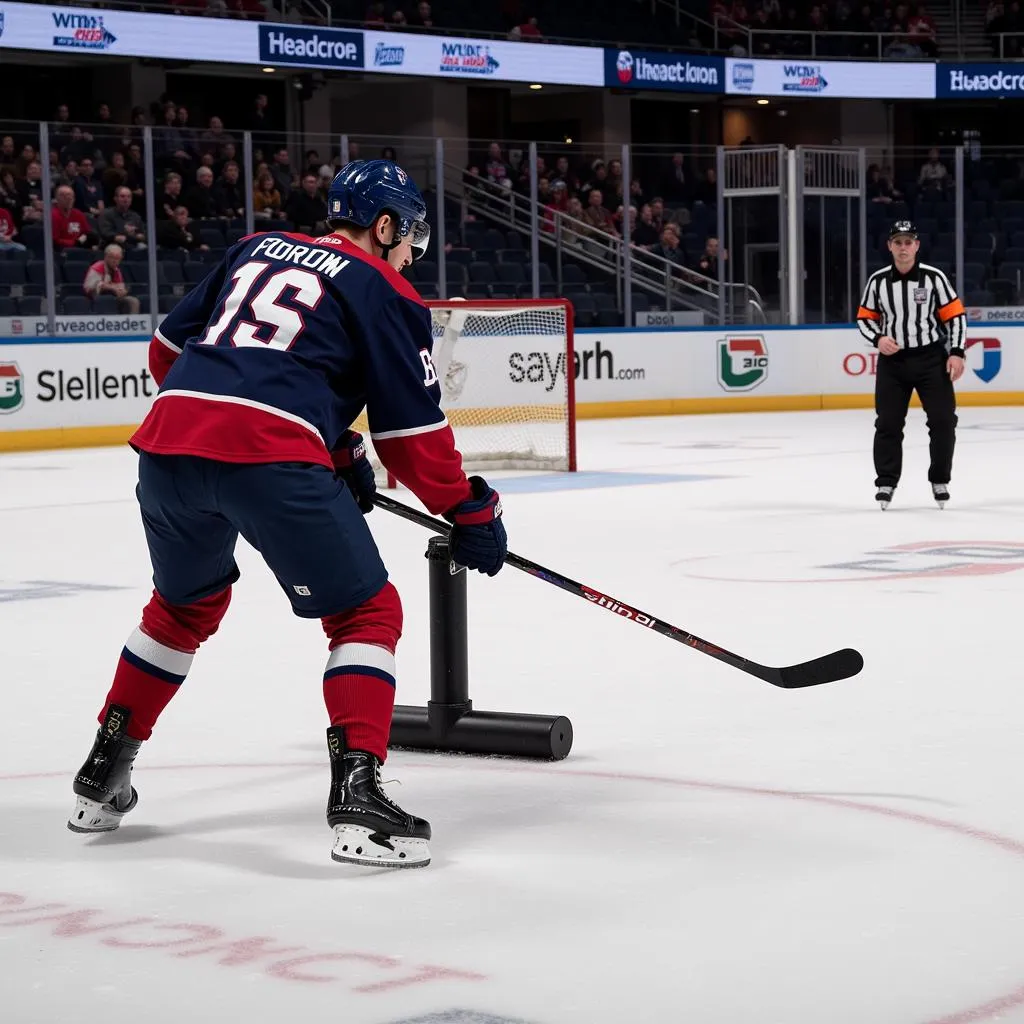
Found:
[[[574,471],[571,305],[564,299],[427,305],[441,408],[465,467]],[[386,479],[379,465],[378,476]]]

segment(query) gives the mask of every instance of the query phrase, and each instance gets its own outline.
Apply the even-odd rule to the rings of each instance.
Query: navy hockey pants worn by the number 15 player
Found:
[[[304,618],[354,608],[387,583],[355,500],[324,466],[143,452],[135,493],[154,586],[171,604],[190,604],[239,579],[239,535]]]

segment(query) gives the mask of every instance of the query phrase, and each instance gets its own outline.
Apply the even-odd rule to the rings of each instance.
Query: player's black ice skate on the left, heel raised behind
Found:
[[[86,762],[75,776],[78,797],[68,827],[78,833],[114,831],[138,803],[131,766],[142,745],[125,733],[131,713],[111,705]]]

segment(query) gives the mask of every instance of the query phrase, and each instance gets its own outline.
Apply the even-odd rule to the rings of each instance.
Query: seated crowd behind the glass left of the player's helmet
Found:
[[[154,116],[156,115],[156,116]],[[154,124],[155,179],[147,180],[142,129]],[[105,103],[76,124],[67,103],[49,122],[50,195],[44,191],[38,132],[0,129],[0,308],[41,306],[44,229],[52,227],[60,308],[137,312],[148,307],[148,251],[155,246],[160,306],[166,311],[245,233],[247,173],[241,140],[212,116],[193,128],[185,106],[165,97],[117,126]],[[327,189],[340,158],[307,151],[293,168],[268,127],[267,99],[254,99],[253,209],[259,229],[312,234],[327,229]],[[147,197],[147,191],[152,197]],[[147,200],[155,224],[147,223]],[[188,267],[188,263],[197,265]],[[133,291],[136,294],[132,294]],[[0,313],[3,315],[4,313]]]

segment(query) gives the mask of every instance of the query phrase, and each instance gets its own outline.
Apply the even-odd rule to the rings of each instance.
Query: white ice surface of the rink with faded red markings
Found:
[[[476,706],[568,715],[575,746],[393,755],[434,828],[399,872],[330,860],[326,644],[245,548],[137,810],[65,828],[148,593],[133,457],[0,459],[0,1021],[1024,1021],[1024,411],[962,410],[941,512],[920,413],[885,513],[866,411],[580,433],[577,486],[505,488],[514,550],[760,662],[849,645],[865,670],[786,692],[473,579]],[[426,535],[372,523],[419,703]]]

